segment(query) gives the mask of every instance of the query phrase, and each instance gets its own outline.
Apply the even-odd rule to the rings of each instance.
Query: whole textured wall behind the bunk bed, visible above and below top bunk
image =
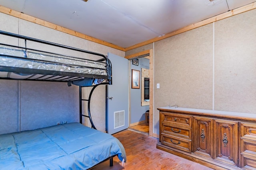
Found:
[[[108,52],[121,57],[125,55],[124,51],[87,41],[6,14],[0,13],[0,23],[0,30],[94,51],[104,55],[107,55]],[[0,41],[6,41],[6,39],[1,37]],[[14,43],[24,44],[24,41],[15,41]],[[58,52],[58,49],[47,47],[46,45],[29,43],[28,45],[47,51]],[[72,55],[70,51],[65,51],[65,53]],[[8,97],[4,105],[1,105],[1,109],[2,106],[5,106],[5,108],[0,112],[0,117],[3,117],[2,121],[0,121],[0,133],[19,131],[17,122],[19,116],[21,130],[55,125],[57,121],[79,121],[78,86],[68,87],[66,83],[56,82],[20,81],[21,90],[17,91],[18,81],[0,81],[0,86],[3,87],[2,90],[4,91],[0,94],[1,98],[4,99],[6,97],[6,91],[14,93],[12,97]],[[19,92],[21,94],[20,100],[18,100]],[[19,103],[20,112],[18,108]],[[84,108],[86,109],[86,104],[84,104]],[[105,86],[100,86],[95,90],[92,101],[92,114],[94,114],[92,117],[96,127],[101,131],[105,131]],[[13,122],[10,123],[10,121]]]

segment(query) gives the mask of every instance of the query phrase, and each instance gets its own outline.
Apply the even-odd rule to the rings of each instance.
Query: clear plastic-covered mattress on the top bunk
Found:
[[[25,51],[7,45],[0,45],[0,66],[107,75],[105,65],[97,61],[32,50]]]

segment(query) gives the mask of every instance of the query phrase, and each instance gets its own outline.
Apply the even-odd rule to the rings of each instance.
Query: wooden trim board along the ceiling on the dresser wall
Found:
[[[206,20],[203,20],[203,21],[200,21],[200,22],[197,22],[197,23],[194,23],[194,24],[191,24],[191,25],[188,25],[186,27],[183,27],[181,29],[178,29],[176,31],[172,31],[170,33],[167,33],[161,37],[156,37],[156,38],[153,38],[153,39],[150,39],[148,41],[144,41],[142,43],[139,43],[139,44],[136,44],[136,45],[133,45],[131,47],[128,47],[128,48],[125,48],[125,51],[128,51],[128,50],[132,50],[132,49],[136,49],[138,47],[142,47],[143,45],[148,45],[150,43],[154,43],[156,41],[160,41],[162,39],[166,39],[168,37],[172,37],[174,35],[177,35],[177,34],[180,34],[180,33],[183,33],[183,32],[186,32],[186,31],[189,31],[191,29],[195,29],[195,28],[198,28],[198,27],[201,27],[203,25],[207,25],[209,23],[213,23],[215,21],[219,21],[219,20],[223,20],[225,18],[228,18],[228,17],[231,17],[231,16],[234,16],[234,15],[237,15],[237,14],[241,14],[243,12],[247,12],[247,11],[250,11],[250,10],[254,10],[256,9],[256,2],[253,2],[251,4],[248,4],[246,6],[242,6],[240,8],[236,8],[234,10],[230,10],[228,12],[225,12],[223,14],[220,14],[220,15],[217,15],[217,16],[214,16],[212,18],[208,18]]]

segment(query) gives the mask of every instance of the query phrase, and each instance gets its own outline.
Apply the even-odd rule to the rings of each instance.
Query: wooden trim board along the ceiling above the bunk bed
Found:
[[[117,45],[114,45],[114,44],[111,44],[111,43],[108,43],[106,41],[102,41],[100,39],[96,39],[94,37],[90,37],[88,35],[85,35],[85,34],[82,34],[82,33],[79,33],[79,32],[76,32],[76,31],[73,31],[71,29],[67,29],[65,27],[61,27],[59,25],[56,25],[56,24],[53,24],[53,23],[50,23],[50,22],[47,22],[47,21],[44,21],[44,20],[40,20],[38,18],[35,18],[35,17],[32,17],[32,16],[29,16],[27,14],[23,14],[21,12],[18,12],[18,11],[15,11],[15,10],[12,10],[10,8],[6,8],[4,6],[0,6],[0,12],[4,13],[4,14],[8,14],[10,16],[14,16],[16,18],[20,18],[22,20],[26,20],[26,21],[30,21],[30,22],[33,22],[33,23],[36,23],[36,24],[39,24],[39,25],[42,25],[42,26],[45,26],[45,27],[48,27],[48,28],[52,28],[52,29],[55,29],[57,31],[61,31],[61,32],[64,32],[64,33],[68,33],[70,35],[74,35],[76,37],[80,37],[82,39],[86,39],[88,41],[92,41],[92,42],[95,42],[95,43],[98,43],[98,44],[102,44],[102,45],[106,45],[108,47],[112,47],[114,49],[118,49],[118,50],[121,50],[121,51],[124,51],[124,48],[123,47],[119,47]]]

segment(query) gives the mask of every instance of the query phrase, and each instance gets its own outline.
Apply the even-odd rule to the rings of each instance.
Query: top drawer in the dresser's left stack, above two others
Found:
[[[189,115],[162,112],[162,116],[163,123],[174,123],[188,127],[192,125],[192,116]]]

